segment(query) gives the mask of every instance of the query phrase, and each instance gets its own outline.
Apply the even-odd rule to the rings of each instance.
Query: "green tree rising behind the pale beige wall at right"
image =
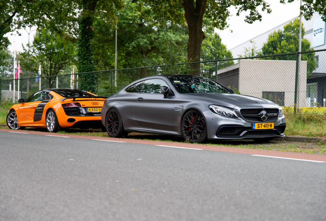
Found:
[[[277,30],[269,34],[268,40],[262,46],[261,55],[276,55],[296,53],[299,50],[299,26],[298,18],[285,25],[283,30]],[[301,24],[302,33],[304,33],[303,24]],[[301,36],[301,51],[313,51],[308,39]],[[295,56],[273,56],[264,59],[271,60],[295,60]],[[307,77],[316,69],[315,53],[301,54],[301,60],[308,61],[307,63]]]

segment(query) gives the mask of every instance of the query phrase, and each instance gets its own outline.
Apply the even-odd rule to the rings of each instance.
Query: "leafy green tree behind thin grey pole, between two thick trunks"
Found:
[[[118,68],[146,67],[185,61],[187,29],[158,23],[148,5],[125,1],[117,15]],[[94,58],[98,67],[112,69],[115,53],[115,27],[102,19],[94,21]]]

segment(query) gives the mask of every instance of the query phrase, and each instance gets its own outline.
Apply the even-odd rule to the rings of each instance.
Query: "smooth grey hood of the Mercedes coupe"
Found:
[[[256,98],[247,95],[238,94],[210,94],[210,93],[191,93],[180,94],[182,98],[198,100],[198,102],[207,102],[227,106],[231,108],[277,108],[278,105],[272,101]]]

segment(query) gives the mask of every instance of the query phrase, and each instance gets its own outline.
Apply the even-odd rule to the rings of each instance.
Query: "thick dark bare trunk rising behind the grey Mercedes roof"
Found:
[[[203,15],[205,14],[207,0],[184,0],[181,3],[185,8],[185,17],[188,24],[188,62],[200,61],[200,49],[205,33],[202,31]],[[200,75],[200,63],[190,64],[190,75]]]

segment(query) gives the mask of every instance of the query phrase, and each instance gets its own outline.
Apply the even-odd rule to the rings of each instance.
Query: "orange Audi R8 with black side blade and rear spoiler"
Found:
[[[101,108],[107,97],[75,89],[45,89],[19,99],[9,109],[7,125],[11,129],[101,128]]]

